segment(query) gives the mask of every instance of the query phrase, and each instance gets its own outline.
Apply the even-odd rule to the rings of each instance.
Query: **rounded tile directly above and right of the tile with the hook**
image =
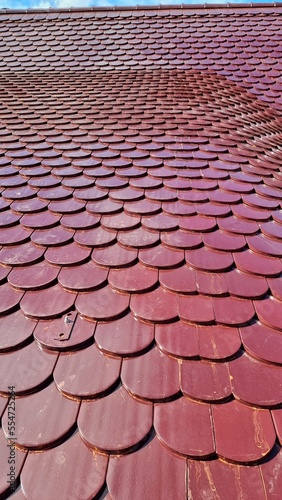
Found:
[[[86,318],[111,321],[127,311],[129,296],[106,286],[93,292],[79,292],[75,306]]]

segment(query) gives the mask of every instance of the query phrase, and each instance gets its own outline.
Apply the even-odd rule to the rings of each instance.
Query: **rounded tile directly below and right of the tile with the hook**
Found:
[[[121,362],[105,356],[95,345],[73,353],[61,353],[54,371],[60,392],[71,398],[96,398],[117,382]]]

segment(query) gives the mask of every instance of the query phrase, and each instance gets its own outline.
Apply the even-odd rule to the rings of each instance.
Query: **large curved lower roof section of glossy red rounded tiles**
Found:
[[[23,465],[25,496],[36,498],[56,464],[63,498],[66,469],[79,478],[74,498],[94,496],[106,476],[111,497],[127,498],[127,474],[152,479],[134,498],[160,496],[161,481],[185,498],[188,456],[195,495],[212,491],[208,478],[263,498],[281,454],[251,468],[215,458],[261,461],[281,440],[279,114],[201,72],[166,76],[179,78],[183,101],[162,94],[162,73],[145,73],[126,97],[110,91],[122,75],[104,91],[98,79],[99,101],[85,112],[77,98],[74,113],[80,78],[44,101],[30,77],[21,114],[21,78],[2,101],[0,293],[1,392],[15,382],[18,470],[27,450],[44,449]],[[238,111],[231,93],[233,104],[244,95]],[[75,449],[84,472],[71,465]]]

